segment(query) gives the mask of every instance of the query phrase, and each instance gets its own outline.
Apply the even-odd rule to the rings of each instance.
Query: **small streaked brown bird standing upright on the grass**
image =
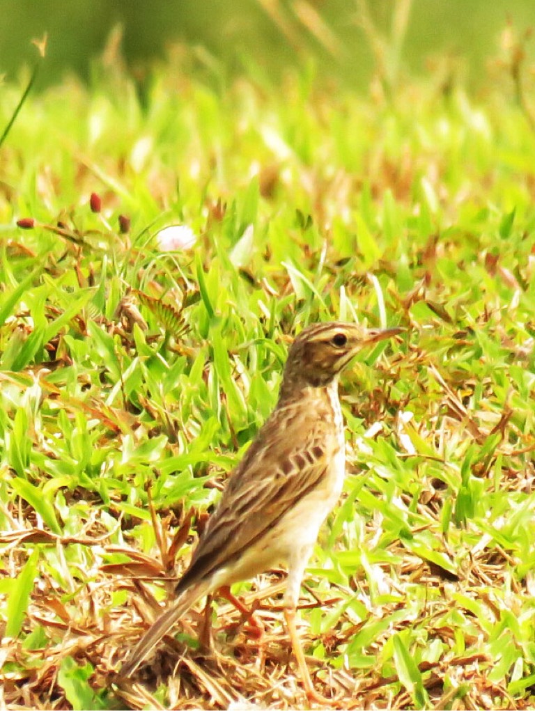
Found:
[[[371,343],[402,328],[312,324],[288,351],[275,410],[231,471],[174,601],[122,665],[131,676],[198,599],[278,565],[287,567],[285,621],[304,693],[314,688],[295,623],[300,587],[319,528],[338,501],[345,474],[345,437],[338,395],[342,370]]]

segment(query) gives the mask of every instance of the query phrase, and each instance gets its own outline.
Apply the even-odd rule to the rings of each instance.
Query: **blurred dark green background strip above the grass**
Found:
[[[449,58],[478,85],[507,22],[535,26],[535,0],[1,0],[0,75],[17,80],[35,62],[31,40],[48,33],[41,86],[66,73],[90,80],[113,37],[141,80],[173,46],[226,75],[253,65],[276,76],[313,58],[325,75],[366,87],[377,61],[411,74]],[[384,45],[382,42],[388,39]]]

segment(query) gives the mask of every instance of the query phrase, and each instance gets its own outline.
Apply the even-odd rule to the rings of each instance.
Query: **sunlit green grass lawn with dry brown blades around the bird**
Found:
[[[139,685],[114,673],[275,405],[288,336],[356,319],[407,330],[341,382],[349,473],[302,591],[317,688],[532,706],[535,134],[507,77],[386,102],[171,65],[142,110],[103,74],[31,97],[2,146],[6,705],[306,705],[277,572],[237,586],[269,597],[263,670],[216,603],[213,651],[192,613]],[[6,125],[23,86],[0,91]],[[171,224],[196,245],[161,251]]]

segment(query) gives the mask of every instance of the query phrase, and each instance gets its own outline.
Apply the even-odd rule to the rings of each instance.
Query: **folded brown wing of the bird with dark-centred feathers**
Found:
[[[176,592],[239,556],[318,485],[328,466],[326,426],[316,411],[292,417],[277,410],[265,422],[231,473]]]

